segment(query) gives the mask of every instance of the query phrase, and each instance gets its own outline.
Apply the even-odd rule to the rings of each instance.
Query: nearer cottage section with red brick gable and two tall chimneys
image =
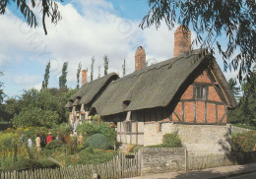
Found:
[[[90,114],[114,122],[122,144],[157,145],[177,131],[189,152],[224,153],[230,149],[226,121],[233,94],[215,57],[190,51],[190,31],[185,36],[179,28],[174,35],[174,58],[144,68],[146,53],[138,47],[136,71],[108,84]]]

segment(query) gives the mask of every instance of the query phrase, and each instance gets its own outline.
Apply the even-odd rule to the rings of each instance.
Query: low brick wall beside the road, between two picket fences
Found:
[[[186,169],[186,150],[184,148],[146,148],[140,149],[142,175]]]

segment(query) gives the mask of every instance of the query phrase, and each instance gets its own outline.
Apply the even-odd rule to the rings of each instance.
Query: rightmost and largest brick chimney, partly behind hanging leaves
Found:
[[[182,31],[182,26],[178,27],[174,32],[174,57],[180,53],[191,50],[191,31],[188,30],[187,35]]]

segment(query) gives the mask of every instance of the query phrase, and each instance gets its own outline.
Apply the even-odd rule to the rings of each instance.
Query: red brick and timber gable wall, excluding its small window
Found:
[[[208,95],[205,100],[194,99],[194,86],[199,86],[200,84],[208,89]],[[184,103],[183,106],[182,101]],[[193,123],[194,121],[196,123],[226,123],[224,105],[224,101],[222,101],[219,93],[211,82],[207,71],[204,71],[196,78],[194,84],[190,85],[182,94],[180,102],[177,103],[174,110],[176,114],[172,114],[172,120],[173,122],[184,120],[184,122],[189,123]],[[178,118],[180,120],[178,120]]]

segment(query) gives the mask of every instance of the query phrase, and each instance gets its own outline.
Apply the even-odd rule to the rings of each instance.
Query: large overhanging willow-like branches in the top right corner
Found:
[[[151,7],[143,18],[142,29],[165,22],[169,30],[175,24],[180,24],[186,33],[187,27],[192,27],[196,33],[193,43],[201,43],[202,48],[214,52],[214,44],[223,55],[224,70],[238,70],[237,78],[240,82],[250,78],[252,67],[256,59],[256,16],[255,0],[149,0]],[[221,45],[217,36],[225,35],[228,40]],[[226,48],[224,48],[226,46]],[[240,51],[237,55],[235,50]],[[234,58],[231,58],[235,55]]]

